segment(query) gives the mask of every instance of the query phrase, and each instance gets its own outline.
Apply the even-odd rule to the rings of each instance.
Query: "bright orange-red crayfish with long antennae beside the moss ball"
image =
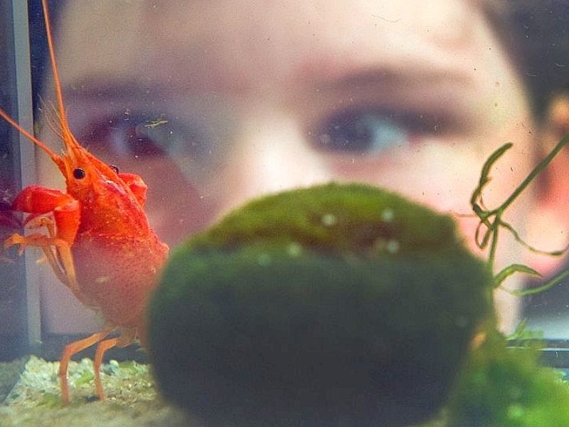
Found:
[[[55,154],[24,130],[4,110],[7,120],[57,164],[65,177],[67,191],[28,186],[16,196],[12,211],[28,214],[24,223],[44,233],[11,235],[4,247],[18,245],[41,248],[53,273],[83,304],[99,310],[106,324],[101,332],[68,344],[60,360],[61,399],[68,404],[68,363],[73,354],[97,344],[95,387],[104,399],[100,379],[103,354],[111,347],[123,347],[139,338],[146,343],[146,307],[151,290],[169,253],[149,226],[144,212],[147,186],[135,174],[121,174],[78,143],[70,131],[63,107],[63,95],[55,63],[48,0],[42,0],[48,50],[55,84],[57,112],[52,125],[65,145]],[[120,330],[118,337],[108,338]]]

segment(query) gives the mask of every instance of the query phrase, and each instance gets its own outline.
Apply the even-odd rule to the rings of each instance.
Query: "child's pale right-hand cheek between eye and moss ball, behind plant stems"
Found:
[[[493,209],[504,203],[517,186],[528,175],[532,167],[532,156],[528,144],[519,144],[506,152],[491,169],[491,181],[484,188],[484,204]],[[355,163],[336,164],[336,174],[396,191],[432,209],[453,216],[459,233],[473,253],[482,255],[475,242],[479,218],[474,216],[470,199],[479,185],[482,167],[496,146],[484,147],[479,144],[457,142],[454,144],[434,142],[424,143],[409,150],[400,150],[393,155],[376,160],[359,159]],[[513,204],[504,219],[520,233],[524,233],[526,209],[532,206],[531,189]],[[484,233],[484,229],[481,230]],[[501,233],[501,246],[508,248],[499,251],[499,261],[504,264],[514,259],[511,254],[519,253],[515,242],[507,233]],[[519,245],[518,245],[519,246]],[[504,260],[504,261],[502,261]]]

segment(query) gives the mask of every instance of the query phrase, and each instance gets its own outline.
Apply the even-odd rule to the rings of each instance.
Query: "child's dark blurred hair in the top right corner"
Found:
[[[486,0],[484,9],[543,119],[551,99],[569,92],[569,1]]]

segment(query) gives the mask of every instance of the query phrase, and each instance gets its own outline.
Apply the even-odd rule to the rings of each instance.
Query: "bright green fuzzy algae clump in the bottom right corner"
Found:
[[[491,330],[469,354],[447,408],[449,427],[565,427],[569,385],[540,366],[538,347],[508,347]]]

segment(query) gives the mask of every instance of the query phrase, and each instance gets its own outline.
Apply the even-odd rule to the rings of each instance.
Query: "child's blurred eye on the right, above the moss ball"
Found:
[[[425,115],[360,109],[331,115],[311,133],[317,149],[353,154],[381,152],[408,144],[418,133],[438,129],[436,120]]]

